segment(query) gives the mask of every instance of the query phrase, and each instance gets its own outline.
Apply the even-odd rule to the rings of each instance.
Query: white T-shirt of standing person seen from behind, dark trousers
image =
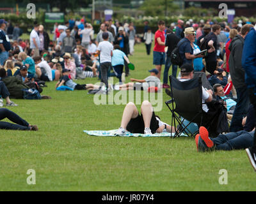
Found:
[[[100,51],[100,63],[111,62],[111,51],[113,45],[109,41],[102,41],[99,43],[97,50]]]

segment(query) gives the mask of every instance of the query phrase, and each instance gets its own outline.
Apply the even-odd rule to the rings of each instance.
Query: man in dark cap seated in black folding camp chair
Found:
[[[174,120],[177,120],[180,126],[182,125],[183,129],[179,128],[178,131],[180,131],[180,129],[181,131],[186,131],[186,128],[184,128],[184,124],[175,116],[174,112],[179,113],[181,117],[190,122],[195,122],[198,127],[207,127],[211,137],[216,137],[218,133],[221,133],[220,127],[218,126],[223,125],[221,130],[227,130],[227,122],[225,122],[227,116],[225,119],[225,116],[222,114],[223,111],[225,112],[225,107],[219,102],[212,101],[212,90],[207,90],[202,86],[200,77],[193,78],[194,71],[191,64],[181,66],[180,74],[181,77],[179,80],[172,77],[170,78],[173,96],[173,100],[171,101],[172,103],[175,102],[176,107],[174,108],[173,106],[173,110],[171,110],[168,106],[172,111]],[[179,81],[184,83],[180,83]],[[168,102],[166,102],[166,105],[167,103]],[[221,115],[223,115],[222,118],[220,117]]]

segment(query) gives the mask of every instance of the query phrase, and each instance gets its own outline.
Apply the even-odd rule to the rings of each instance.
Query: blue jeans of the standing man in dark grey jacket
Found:
[[[237,94],[237,103],[236,108],[234,110],[234,114],[230,124],[230,132],[237,132],[243,129],[242,120],[243,116],[246,115],[249,105],[250,99],[246,86],[240,87],[236,89]]]

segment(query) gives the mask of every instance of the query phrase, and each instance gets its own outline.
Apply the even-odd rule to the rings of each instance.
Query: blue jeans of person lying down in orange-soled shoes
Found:
[[[234,150],[246,149],[253,145],[254,131],[248,133],[246,131],[239,131],[236,133],[227,133],[219,135],[216,138],[211,138],[216,150]]]

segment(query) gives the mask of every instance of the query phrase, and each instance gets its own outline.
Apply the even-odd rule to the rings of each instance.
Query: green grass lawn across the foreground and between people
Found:
[[[129,77],[147,77],[152,54],[144,45],[136,45],[130,59],[136,68]],[[185,137],[86,135],[84,129],[117,129],[125,105],[95,105],[87,91],[57,92],[55,84],[43,91],[50,100],[13,99],[19,106],[10,110],[39,131],[0,130],[0,191],[255,191],[256,174],[244,150],[198,153],[194,138]],[[157,115],[170,123],[168,99],[163,92]],[[29,169],[36,172],[35,185],[27,184]],[[221,185],[223,169],[228,183]]]

